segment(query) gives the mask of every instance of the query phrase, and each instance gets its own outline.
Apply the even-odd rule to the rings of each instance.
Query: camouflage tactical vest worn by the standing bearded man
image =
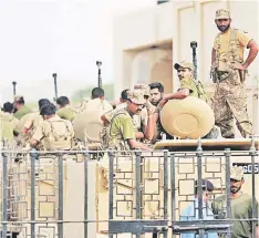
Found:
[[[230,68],[231,62],[242,62],[242,59],[240,59],[237,45],[238,45],[238,39],[237,39],[237,32],[238,29],[230,29],[230,35],[229,35],[229,48],[226,52],[226,60],[220,62],[220,35],[221,33],[218,33],[216,37],[216,43],[217,43],[217,50],[216,50],[216,68],[220,70],[220,68],[226,68],[226,71],[228,71]],[[220,64],[224,64],[224,66],[220,66]]]

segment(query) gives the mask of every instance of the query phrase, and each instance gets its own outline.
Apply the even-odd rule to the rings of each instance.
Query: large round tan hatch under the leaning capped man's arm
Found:
[[[164,130],[172,136],[180,138],[199,138],[207,135],[215,117],[210,106],[195,96],[170,100],[160,112]]]

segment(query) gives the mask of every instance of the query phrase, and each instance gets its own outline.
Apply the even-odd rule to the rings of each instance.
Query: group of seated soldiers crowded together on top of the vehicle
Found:
[[[93,89],[92,99],[83,101],[77,110],[70,105],[66,96],[61,96],[56,100],[58,110],[48,99],[41,99],[39,111],[32,112],[25,106],[23,96],[15,96],[14,103],[2,106],[2,138],[15,139],[18,144],[40,151],[73,149],[76,144],[73,120],[85,110],[101,110],[104,125],[100,138],[102,147],[152,151],[152,145],[162,139],[163,134],[172,138],[159,121],[160,110],[168,100],[190,95],[209,103],[201,84],[195,82],[191,63],[182,61],[175,64],[175,70],[180,82],[176,93],[164,94],[164,86],[158,82],[136,84],[132,90],[124,90],[120,103],[113,106],[100,87]],[[214,133],[217,136],[217,131]]]

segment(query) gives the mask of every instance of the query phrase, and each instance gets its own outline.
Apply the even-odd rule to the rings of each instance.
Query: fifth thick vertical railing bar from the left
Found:
[[[108,220],[113,219],[113,161],[114,155],[112,151],[108,151]],[[113,238],[113,234],[108,228],[108,238]]]

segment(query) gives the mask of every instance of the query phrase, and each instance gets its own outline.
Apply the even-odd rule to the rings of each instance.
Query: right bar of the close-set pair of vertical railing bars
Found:
[[[170,216],[172,216],[172,223],[175,223],[175,155],[170,153]],[[172,237],[175,237],[173,229],[172,229]]]

